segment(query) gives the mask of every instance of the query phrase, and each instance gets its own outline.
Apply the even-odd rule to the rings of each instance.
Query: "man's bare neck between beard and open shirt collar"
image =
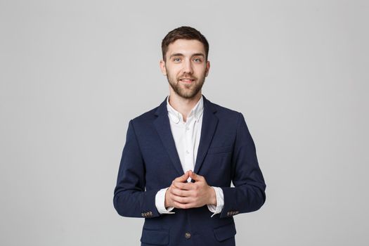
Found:
[[[183,121],[186,122],[187,116],[190,114],[193,107],[195,107],[196,103],[198,103],[201,96],[201,91],[199,91],[193,98],[182,98],[174,91],[170,91],[169,104],[182,114]]]

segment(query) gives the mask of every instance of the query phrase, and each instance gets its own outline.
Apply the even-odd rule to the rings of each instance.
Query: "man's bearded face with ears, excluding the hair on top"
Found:
[[[204,45],[196,39],[177,39],[169,44],[166,59],[160,61],[160,68],[171,89],[182,98],[195,97],[209,73]]]

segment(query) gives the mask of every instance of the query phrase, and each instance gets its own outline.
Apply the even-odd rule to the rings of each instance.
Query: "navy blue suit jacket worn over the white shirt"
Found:
[[[243,115],[207,100],[196,174],[224,193],[224,208],[213,217],[207,206],[160,214],[158,190],[183,175],[171,134],[167,99],[129,122],[119,166],[114,207],[121,216],[144,217],[141,245],[235,245],[235,214],[252,212],[265,202],[263,175]],[[231,187],[231,182],[233,186]]]

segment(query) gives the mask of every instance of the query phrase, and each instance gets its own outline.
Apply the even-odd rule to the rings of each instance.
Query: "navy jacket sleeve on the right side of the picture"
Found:
[[[231,162],[235,187],[221,187],[224,193],[221,218],[256,211],[266,199],[266,184],[257,161],[254,141],[242,113],[238,118]]]

